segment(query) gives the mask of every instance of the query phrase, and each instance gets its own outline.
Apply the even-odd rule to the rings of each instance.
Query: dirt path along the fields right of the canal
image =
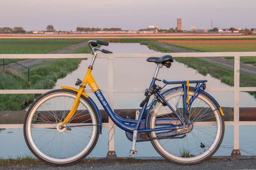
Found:
[[[173,52],[196,52],[194,50],[188,50],[186,48],[180,48],[178,46],[172,46],[168,45],[166,43],[161,43],[158,41],[150,41],[153,45],[162,46],[163,48],[166,48],[168,50],[172,50]],[[224,59],[222,57],[200,57],[200,59],[205,60],[207,62],[211,62],[212,64],[216,64],[218,66],[228,67],[229,69],[234,69],[234,61]],[[243,64],[240,63],[240,71],[241,73],[250,75],[250,76],[256,76],[256,67],[252,66],[251,64]]]

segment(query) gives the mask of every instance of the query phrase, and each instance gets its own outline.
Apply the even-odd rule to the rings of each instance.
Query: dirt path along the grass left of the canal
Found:
[[[78,43],[76,45],[71,45],[71,46],[68,46],[66,48],[62,48],[60,50],[56,50],[54,52],[49,52],[49,53],[51,53],[51,54],[52,53],[70,53],[73,50],[81,48],[85,45],[87,45],[87,42]],[[15,62],[12,62],[12,63],[4,66],[4,69],[10,69],[12,71],[17,71],[17,72],[26,71],[26,67],[30,68],[31,66],[43,64],[45,62],[49,62],[49,61],[52,61],[52,60],[55,60],[55,59],[26,59],[26,60],[20,60],[17,63],[19,63],[22,66],[20,66],[19,64],[16,64]]]

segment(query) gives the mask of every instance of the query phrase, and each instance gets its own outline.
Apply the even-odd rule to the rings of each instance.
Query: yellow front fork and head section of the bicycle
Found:
[[[99,90],[99,87],[97,86],[95,80],[93,79],[93,76],[92,76],[91,72],[92,72],[92,69],[88,68],[87,73],[84,77],[84,81],[83,81],[79,91],[77,92],[77,96],[76,96],[76,99],[74,101],[74,104],[73,104],[71,110],[69,111],[67,117],[65,118],[65,120],[63,120],[63,122],[61,123],[60,127],[63,127],[65,124],[68,124],[70,119],[76,113],[76,110],[77,110],[77,108],[79,106],[79,103],[80,103],[79,99],[81,97],[81,94],[84,92],[84,88],[85,88],[87,83],[90,85],[93,92],[95,92],[96,90]]]

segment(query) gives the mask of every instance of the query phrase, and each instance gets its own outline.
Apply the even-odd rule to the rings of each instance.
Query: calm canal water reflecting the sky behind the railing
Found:
[[[147,46],[139,43],[110,43],[109,46],[104,46],[104,49],[113,53],[152,53],[152,55],[145,57],[154,57],[154,53],[156,53],[154,50],[150,50]],[[62,85],[76,87],[77,78],[83,80],[89,64],[90,59],[83,60],[76,71],[58,80],[54,89],[59,89]],[[114,89],[146,89],[155,69],[156,64],[147,62],[146,58],[114,59]],[[96,59],[92,74],[100,89],[108,89],[108,59]],[[158,78],[168,81],[208,80],[207,88],[229,87],[221,83],[220,80],[209,75],[203,76],[198,71],[179,62],[173,62],[170,69],[163,67],[159,72]],[[159,83],[159,85],[163,85],[163,83]],[[211,92],[210,94],[214,96],[221,106],[233,107],[233,92]],[[90,94],[90,96],[99,106],[99,109],[102,109],[94,94]],[[108,99],[108,94],[104,94],[104,96]],[[256,106],[256,101],[250,94],[241,92],[240,97],[241,107]],[[143,94],[115,94],[115,109],[140,108],[139,105],[143,99]],[[256,147],[254,145],[256,141],[255,131],[256,127],[253,126],[240,127],[239,145],[242,155],[256,155]],[[0,157],[6,159],[9,157],[32,156],[24,141],[22,129],[2,130],[0,135]],[[131,146],[132,143],[125,137],[124,131],[118,127],[115,128],[115,151],[118,157],[128,157]],[[137,143],[136,149],[138,150],[138,157],[160,157],[150,142]],[[215,155],[230,155],[232,149],[233,128],[226,126],[223,143]],[[99,141],[90,157],[106,157],[106,153],[108,153],[108,128],[103,129],[102,135],[100,135]]]

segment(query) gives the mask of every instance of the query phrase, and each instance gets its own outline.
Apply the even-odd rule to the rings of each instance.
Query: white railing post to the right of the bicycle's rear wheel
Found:
[[[231,156],[241,156],[239,150],[239,90],[240,87],[240,56],[234,56],[234,148]]]

